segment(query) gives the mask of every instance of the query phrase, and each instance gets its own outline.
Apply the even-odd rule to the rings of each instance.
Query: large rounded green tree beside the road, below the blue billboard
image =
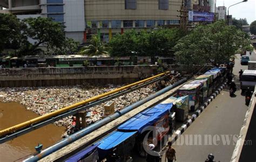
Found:
[[[250,46],[248,35],[224,21],[197,26],[174,47],[177,60],[183,64],[204,65],[210,60],[220,64],[228,61],[239,47]]]

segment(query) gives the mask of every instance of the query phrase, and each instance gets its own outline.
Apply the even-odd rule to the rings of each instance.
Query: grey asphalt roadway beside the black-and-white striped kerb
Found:
[[[247,52],[247,55],[250,54]],[[256,61],[255,52],[250,56],[250,60]],[[177,161],[204,161],[209,153],[215,156],[216,161],[230,161],[235,147],[237,136],[239,135],[241,125],[244,121],[247,106],[245,105],[245,96],[241,95],[239,86],[240,69],[247,69],[247,65],[240,65],[240,54],[235,59],[233,74],[238,86],[237,96],[230,97],[226,87],[221,93],[208,105],[201,115],[192,123],[183,133],[185,142],[177,140],[173,147],[176,150]],[[201,136],[201,144],[196,140],[187,140],[186,137]],[[221,136],[222,135],[222,136]],[[228,140],[223,140],[223,135],[231,137],[231,143],[225,144]],[[216,143],[210,144],[204,137],[215,138]],[[180,138],[181,139],[181,138]],[[190,138],[188,138],[190,139]],[[217,139],[217,140],[216,140]],[[192,142],[191,145],[189,142]],[[233,142],[234,141],[234,142]]]

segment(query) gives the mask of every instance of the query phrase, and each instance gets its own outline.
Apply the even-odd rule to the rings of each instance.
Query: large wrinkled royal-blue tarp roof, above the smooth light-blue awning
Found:
[[[167,101],[167,100],[166,100]],[[138,131],[139,133],[146,126],[153,125],[172,108],[171,102],[162,102],[153,108],[140,112],[138,115],[118,127],[120,131]]]

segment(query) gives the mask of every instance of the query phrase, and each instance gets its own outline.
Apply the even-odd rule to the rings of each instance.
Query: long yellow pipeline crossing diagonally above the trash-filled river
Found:
[[[89,102],[92,102],[92,101],[97,101],[97,100],[99,100],[99,99],[102,98],[102,97],[105,97],[105,96],[108,96],[108,95],[117,93],[118,91],[121,91],[121,90],[124,90],[124,89],[128,89],[128,88],[131,88],[131,87],[133,87],[133,86],[137,86],[138,84],[144,83],[144,82],[146,82],[146,81],[150,81],[150,80],[152,80],[152,79],[154,79],[154,78],[158,78],[159,76],[162,76],[162,75],[165,75],[165,74],[169,74],[169,73],[170,73],[170,72],[165,72],[165,73],[161,73],[161,74],[152,76],[152,77],[150,77],[150,78],[147,78],[147,79],[144,79],[144,80],[141,80],[141,81],[138,81],[138,82],[129,84],[129,85],[127,85],[127,86],[114,89],[114,90],[109,91],[109,92],[107,92],[107,93],[104,93],[104,94],[101,94],[101,95],[98,95],[98,96],[95,96],[95,97],[91,97],[91,98],[89,98],[89,99],[87,99],[87,100],[78,102],[78,103],[76,103],[76,104],[72,104],[72,105],[70,105],[70,106],[68,106],[68,107],[64,107],[64,108],[62,108],[62,109],[59,109],[59,110],[50,112],[49,114],[45,114],[45,115],[43,115],[43,116],[39,116],[39,117],[33,118],[33,119],[29,120],[29,121],[26,121],[26,122],[23,122],[23,123],[20,123],[20,124],[11,126],[10,128],[6,128],[6,129],[4,129],[4,130],[1,130],[1,131],[0,131],[0,137],[6,135],[6,134],[8,134],[8,133],[11,133],[11,132],[13,132],[13,131],[16,131],[16,130],[18,130],[18,129],[24,128],[25,126],[29,126],[29,125],[31,125],[31,124],[34,124],[34,123],[43,121],[44,119],[47,119],[47,118],[56,116],[56,115],[58,115],[58,114],[60,114],[60,113],[62,113],[62,112],[65,112],[65,111],[71,110],[71,109],[73,109],[73,108],[76,108],[76,107],[78,107],[79,105],[83,105],[83,104],[86,104],[86,103],[89,103]]]

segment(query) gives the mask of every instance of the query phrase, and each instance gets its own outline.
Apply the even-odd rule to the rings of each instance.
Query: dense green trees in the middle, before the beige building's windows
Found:
[[[171,56],[172,48],[183,36],[178,29],[129,30],[111,39],[110,53],[112,56]]]

